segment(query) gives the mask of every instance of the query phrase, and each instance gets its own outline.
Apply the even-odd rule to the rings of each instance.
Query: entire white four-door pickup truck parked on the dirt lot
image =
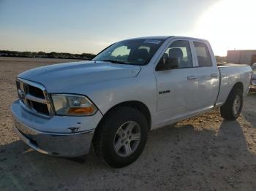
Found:
[[[217,66],[203,39],[153,36],[107,47],[92,60],[18,75],[15,130],[38,152],[77,157],[94,150],[113,167],[133,163],[148,130],[220,107],[236,120],[249,66]]]

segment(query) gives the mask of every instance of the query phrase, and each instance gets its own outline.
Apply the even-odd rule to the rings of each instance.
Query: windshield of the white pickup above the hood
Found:
[[[132,39],[116,42],[92,59],[112,63],[146,65],[162,44],[160,39]]]

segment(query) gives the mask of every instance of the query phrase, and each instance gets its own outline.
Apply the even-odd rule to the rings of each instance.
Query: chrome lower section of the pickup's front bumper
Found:
[[[45,133],[15,120],[15,131],[29,147],[45,155],[78,157],[86,155],[94,130],[79,133]]]

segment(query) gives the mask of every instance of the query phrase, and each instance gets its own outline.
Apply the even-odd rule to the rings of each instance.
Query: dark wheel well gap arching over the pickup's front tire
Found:
[[[146,117],[146,120],[148,122],[148,129],[151,128],[151,114],[149,112],[149,109],[145,104],[143,104],[140,101],[125,101],[125,102],[122,102],[120,104],[116,104],[115,106],[111,107],[108,110],[108,112],[106,112],[104,114],[104,116],[102,117],[102,120],[100,122],[102,122],[105,119],[105,117],[108,117],[108,114],[110,114],[110,112],[113,111],[113,109],[116,109],[119,106],[129,106],[129,107],[132,107],[132,108],[137,109],[138,111],[140,111]]]

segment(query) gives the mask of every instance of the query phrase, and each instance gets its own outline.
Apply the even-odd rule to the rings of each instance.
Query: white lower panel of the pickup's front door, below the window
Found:
[[[188,80],[189,76],[196,77],[196,69],[173,69],[156,71],[157,78],[157,120],[153,125],[172,120],[181,114],[189,114],[197,109],[197,79]],[[170,90],[170,93],[159,94],[159,91]],[[189,93],[184,93],[186,90]]]

